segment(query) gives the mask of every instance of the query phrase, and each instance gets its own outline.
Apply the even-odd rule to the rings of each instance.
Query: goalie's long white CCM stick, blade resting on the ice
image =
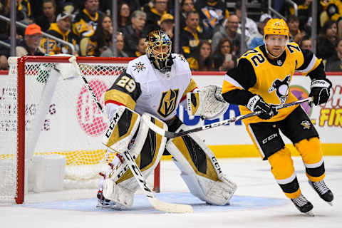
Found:
[[[96,105],[98,105],[98,109],[101,111],[103,115],[105,115],[104,110],[102,108],[102,105],[98,101],[98,98],[96,98],[96,95],[93,91],[93,89],[90,87],[87,79],[85,76],[83,76],[83,73],[81,72],[81,68],[78,66],[78,63],[76,62],[76,57],[73,56],[69,58],[69,61],[73,63],[73,66],[75,66],[78,75],[83,79],[83,83],[86,85],[88,92],[91,94],[91,97],[95,101]],[[155,197],[150,187],[147,186],[145,178],[142,176],[140,169],[133,159],[130,152],[127,150],[123,153],[125,156],[125,161],[128,163],[128,167],[130,167],[130,171],[133,173],[133,176],[138,181],[138,184],[140,188],[142,189],[142,192],[147,197],[148,201],[157,210],[163,211],[163,212],[171,212],[171,213],[188,213],[193,212],[193,209],[190,205],[187,204],[172,204],[167,202],[162,202],[159,199]]]

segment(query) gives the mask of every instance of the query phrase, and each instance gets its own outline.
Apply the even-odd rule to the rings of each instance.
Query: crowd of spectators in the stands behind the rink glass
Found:
[[[17,29],[16,56],[71,53],[71,48],[42,36],[42,32],[72,43],[78,56],[138,57],[145,54],[148,31],[162,28],[175,39],[174,0],[118,0],[118,32],[113,43],[111,0],[14,0],[16,20],[29,25]],[[271,19],[266,1],[246,0],[245,40],[242,41],[242,3],[229,0],[180,1],[180,53],[192,71],[227,71],[237,66],[247,49],[264,44],[263,31]],[[9,17],[10,0],[0,0],[0,14]],[[273,2],[273,1],[272,1]],[[272,7],[285,16],[290,41],[312,48],[313,0],[294,0],[298,14],[285,0]],[[259,4],[259,14],[249,14],[249,4]],[[233,8],[229,8],[233,6]],[[316,56],[326,71],[342,71],[342,0],[318,1]],[[9,24],[0,21],[0,40],[9,43]],[[113,53],[113,45],[116,53]],[[172,43],[175,48],[175,42]],[[0,69],[7,69],[9,48],[0,46]]]

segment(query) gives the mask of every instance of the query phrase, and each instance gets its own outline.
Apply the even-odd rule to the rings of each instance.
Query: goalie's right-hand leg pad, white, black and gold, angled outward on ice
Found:
[[[197,135],[174,138],[167,142],[166,149],[182,171],[181,177],[192,195],[209,204],[224,205],[229,202],[237,185],[222,173],[216,157]]]

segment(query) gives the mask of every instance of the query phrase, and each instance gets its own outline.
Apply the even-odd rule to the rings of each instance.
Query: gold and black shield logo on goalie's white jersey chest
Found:
[[[162,98],[160,99],[157,112],[163,118],[166,118],[167,115],[170,115],[177,108],[177,98],[179,92],[179,89],[175,89],[162,93]]]

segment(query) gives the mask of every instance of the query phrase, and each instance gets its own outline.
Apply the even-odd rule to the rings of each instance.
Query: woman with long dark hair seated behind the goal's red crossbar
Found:
[[[113,34],[112,19],[109,16],[103,16],[102,21],[98,21],[93,36],[81,39],[81,56],[100,56],[105,49],[110,46]]]

